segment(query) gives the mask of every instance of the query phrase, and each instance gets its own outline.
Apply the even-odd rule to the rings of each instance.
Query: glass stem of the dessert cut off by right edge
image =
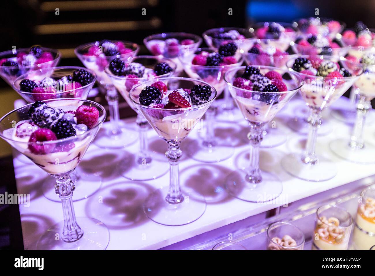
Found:
[[[360,96],[357,103],[356,123],[350,136],[350,146],[353,149],[362,149],[364,145],[363,128],[365,126],[366,116],[371,109],[371,102],[366,97]]]

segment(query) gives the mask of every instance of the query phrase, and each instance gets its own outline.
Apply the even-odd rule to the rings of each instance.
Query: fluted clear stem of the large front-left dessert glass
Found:
[[[57,177],[55,184],[55,193],[61,199],[63,205],[64,228],[61,239],[67,243],[79,240],[83,236],[83,230],[78,226],[73,207],[74,183],[69,174]]]

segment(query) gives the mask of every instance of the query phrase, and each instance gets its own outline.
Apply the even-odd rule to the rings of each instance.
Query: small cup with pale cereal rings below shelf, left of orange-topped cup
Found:
[[[303,250],[305,235],[297,226],[276,222],[267,229],[268,250]]]

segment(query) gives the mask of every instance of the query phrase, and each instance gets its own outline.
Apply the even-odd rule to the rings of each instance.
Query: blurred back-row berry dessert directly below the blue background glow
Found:
[[[291,23],[282,22],[257,23],[254,34],[259,39],[279,39],[285,42],[294,41],[297,36],[296,29]]]

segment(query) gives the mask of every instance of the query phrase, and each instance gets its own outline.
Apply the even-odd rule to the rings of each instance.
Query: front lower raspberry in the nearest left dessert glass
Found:
[[[48,128],[40,128],[31,133],[27,147],[33,154],[47,154],[53,151],[55,144],[43,144],[37,142],[53,141],[56,139],[56,135],[52,130],[49,130]]]

